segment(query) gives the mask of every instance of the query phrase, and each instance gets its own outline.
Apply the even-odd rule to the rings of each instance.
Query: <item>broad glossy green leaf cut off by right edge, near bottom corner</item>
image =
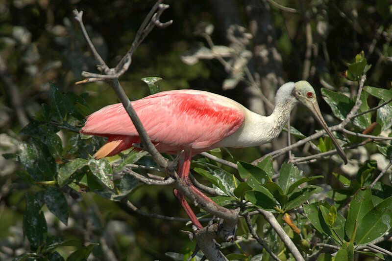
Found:
[[[373,207],[358,221],[355,241],[357,245],[367,244],[388,232],[392,227],[392,196]]]

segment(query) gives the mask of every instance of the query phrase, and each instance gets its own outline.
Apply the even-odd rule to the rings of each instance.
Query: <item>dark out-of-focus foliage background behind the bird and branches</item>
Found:
[[[18,142],[26,139],[19,131],[42,111],[42,103],[49,104],[49,81],[61,92],[79,95],[87,92],[87,102],[93,111],[118,102],[106,83],[74,84],[83,79],[82,71],[98,71],[73,19],[73,9],[84,12],[83,21],[93,43],[113,67],[129,49],[154,3],[152,0],[0,0],[0,155],[16,152]],[[170,8],[163,13],[161,21],[173,20],[172,25],[152,30],[120,79],[131,100],[149,94],[141,78],[159,76],[163,78],[159,82],[162,90],[208,90],[268,114],[271,109],[260,97],[260,90],[272,102],[281,84],[305,79],[315,87],[320,108],[331,125],[337,119],[320,98],[319,89],[326,87],[352,96],[355,90],[341,76],[347,63],[353,62],[361,50],[372,64],[368,81],[373,87],[391,88],[391,0],[168,0],[165,3]],[[225,67],[220,59],[232,69]],[[373,103],[369,100],[370,107],[376,105],[376,101]],[[303,108],[294,111],[292,119],[292,125],[305,135],[319,129]],[[67,133],[61,135],[66,140]],[[230,149],[234,158],[227,152],[221,152],[221,156],[234,162],[251,162],[284,144],[286,139],[282,137],[262,148]],[[360,152],[358,155],[366,157]],[[328,161],[312,167],[316,174],[330,173],[336,168]],[[22,218],[25,193],[34,188],[18,178],[19,170],[14,161],[0,156],[0,260],[12,260],[28,249]],[[349,169],[346,174],[350,174]],[[132,195],[131,201],[148,213],[185,217],[169,186],[144,186]],[[49,234],[85,242],[99,242],[96,235],[105,235],[111,238],[110,248],[119,260],[125,256],[128,260],[165,260],[165,252],[184,253],[194,247],[187,235],[179,233],[183,223],[126,213],[121,205],[95,194],[84,195],[80,202],[69,198],[69,205],[71,215],[67,227],[49,211],[45,212]],[[99,257],[102,249],[94,251]]]

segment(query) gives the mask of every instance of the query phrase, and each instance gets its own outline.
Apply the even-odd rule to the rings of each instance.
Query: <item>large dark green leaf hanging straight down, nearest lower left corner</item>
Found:
[[[44,213],[36,197],[26,194],[26,209],[23,215],[23,233],[31,246],[38,248],[44,244],[47,237],[48,226]]]

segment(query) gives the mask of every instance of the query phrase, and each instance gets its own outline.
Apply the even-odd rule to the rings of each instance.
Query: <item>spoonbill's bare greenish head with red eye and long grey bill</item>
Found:
[[[346,155],[344,154],[342,148],[339,146],[338,142],[332,135],[331,131],[329,130],[327,124],[324,121],[324,118],[321,116],[314,88],[307,81],[299,81],[294,83],[294,88],[291,94],[299,103],[308,108],[314,114],[315,118],[319,121],[321,126],[330,136],[336,150],[342,157],[344,163],[347,164]]]

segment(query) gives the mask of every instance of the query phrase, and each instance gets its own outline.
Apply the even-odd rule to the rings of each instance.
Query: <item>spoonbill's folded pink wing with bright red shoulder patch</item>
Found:
[[[147,96],[132,102],[132,106],[159,151],[201,152],[233,134],[244,122],[244,112],[229,104],[222,105],[227,103],[225,99],[208,92],[174,90]],[[116,153],[140,142],[121,103],[88,116],[81,132],[116,141]]]

